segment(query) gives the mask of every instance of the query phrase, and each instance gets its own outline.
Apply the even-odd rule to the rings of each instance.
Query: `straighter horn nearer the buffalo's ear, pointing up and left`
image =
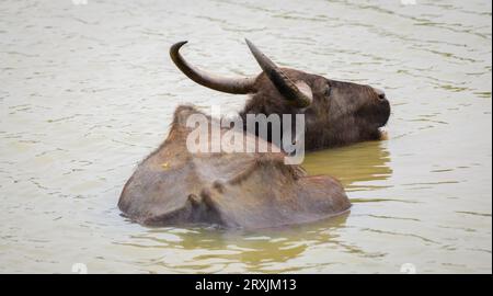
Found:
[[[310,87],[303,81],[295,83],[279,67],[277,67],[271,59],[262,54],[259,48],[249,39],[245,39],[246,45],[255,57],[265,75],[271,79],[276,89],[283,96],[290,101],[295,106],[306,107],[311,104],[312,94]],[[301,90],[300,90],[301,88]]]

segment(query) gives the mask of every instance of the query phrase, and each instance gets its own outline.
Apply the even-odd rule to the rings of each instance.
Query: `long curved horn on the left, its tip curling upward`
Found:
[[[180,70],[184,75],[186,75],[190,79],[197,82],[200,86],[206,88],[233,93],[233,94],[246,94],[254,91],[254,77],[249,78],[226,78],[219,77],[211,73],[207,73],[203,70],[199,70],[193,66],[191,66],[180,54],[180,48],[186,44],[187,42],[179,42],[171,46],[170,56],[173,60],[174,65],[179,67]]]

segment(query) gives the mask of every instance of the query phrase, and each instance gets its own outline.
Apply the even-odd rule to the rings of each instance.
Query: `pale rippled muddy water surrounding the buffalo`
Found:
[[[83,2],[0,2],[0,272],[492,271],[491,1]],[[351,214],[262,231],[125,220],[122,186],[177,104],[245,101],[185,79],[169,46],[256,73],[243,37],[387,90],[389,139],[303,164],[342,181]]]

